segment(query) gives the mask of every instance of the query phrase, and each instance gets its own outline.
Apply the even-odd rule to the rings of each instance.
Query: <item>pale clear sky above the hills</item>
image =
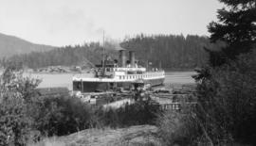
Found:
[[[0,33],[54,46],[137,34],[209,36],[218,0],[0,0]]]

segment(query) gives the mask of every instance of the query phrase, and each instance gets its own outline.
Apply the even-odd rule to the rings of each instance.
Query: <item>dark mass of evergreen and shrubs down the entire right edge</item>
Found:
[[[210,41],[226,46],[210,52],[210,66],[196,76],[198,122],[214,144],[255,145],[256,1],[220,0],[218,23],[209,25]]]

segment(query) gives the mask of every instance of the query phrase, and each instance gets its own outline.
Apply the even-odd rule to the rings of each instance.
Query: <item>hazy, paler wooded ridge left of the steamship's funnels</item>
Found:
[[[109,48],[109,45],[107,45]],[[115,56],[115,51],[106,49],[106,54]],[[91,42],[89,44],[76,46],[64,46],[48,52],[32,52],[26,55],[16,55],[8,59],[2,59],[1,64],[6,66],[9,61],[23,64],[32,69],[42,68],[47,66],[71,66],[101,63],[102,47],[99,42]]]

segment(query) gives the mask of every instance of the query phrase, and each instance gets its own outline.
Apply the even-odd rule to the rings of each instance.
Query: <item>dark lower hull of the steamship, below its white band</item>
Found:
[[[164,78],[144,80],[144,84],[150,84],[152,87],[163,85]],[[115,88],[130,89],[135,82],[93,82],[93,81],[73,81],[73,90],[82,92],[107,91]]]

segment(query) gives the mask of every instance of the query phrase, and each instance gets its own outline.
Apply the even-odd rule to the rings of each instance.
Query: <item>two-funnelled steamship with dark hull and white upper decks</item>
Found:
[[[115,89],[135,89],[137,85],[151,87],[162,85],[165,72],[161,69],[151,70],[137,64],[135,52],[129,51],[126,61],[126,50],[119,50],[119,60],[102,60],[91,76],[76,74],[73,76],[73,90],[86,92],[104,92]]]

